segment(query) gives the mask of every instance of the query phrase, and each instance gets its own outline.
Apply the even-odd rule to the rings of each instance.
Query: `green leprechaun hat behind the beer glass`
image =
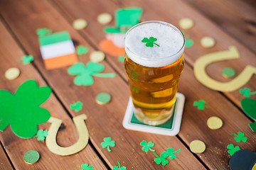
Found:
[[[115,12],[116,27],[105,27],[105,33],[126,33],[129,28],[139,23],[143,10],[139,7],[119,8]]]

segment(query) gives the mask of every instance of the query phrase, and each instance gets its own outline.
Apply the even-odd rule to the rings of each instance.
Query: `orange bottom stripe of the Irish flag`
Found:
[[[65,67],[78,62],[78,57],[75,53],[70,55],[63,55],[60,57],[54,57],[50,59],[43,60],[46,69],[56,69],[60,67]]]

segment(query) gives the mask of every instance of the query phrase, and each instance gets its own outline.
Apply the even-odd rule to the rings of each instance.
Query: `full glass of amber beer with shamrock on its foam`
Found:
[[[161,125],[171,118],[184,45],[181,30],[162,21],[146,21],[127,31],[124,67],[134,115],[142,123]]]

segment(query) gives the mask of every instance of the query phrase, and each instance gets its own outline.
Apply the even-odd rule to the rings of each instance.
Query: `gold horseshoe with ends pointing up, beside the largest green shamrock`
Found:
[[[65,156],[75,154],[77,152],[80,152],[80,150],[84,149],[89,140],[89,133],[84,121],[86,119],[87,116],[85,114],[78,115],[75,118],[73,118],[73,122],[79,134],[78,142],[76,142],[74,145],[71,145],[70,147],[60,147],[56,142],[56,136],[58,133],[58,129],[60,128],[60,125],[62,123],[62,120],[50,117],[48,122],[50,122],[51,125],[48,130],[48,136],[46,137],[46,146],[48,147],[50,152]]]

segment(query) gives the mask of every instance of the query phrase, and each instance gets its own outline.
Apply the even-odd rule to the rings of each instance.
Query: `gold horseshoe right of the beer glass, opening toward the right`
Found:
[[[208,64],[222,60],[236,59],[239,57],[238,49],[235,46],[230,46],[229,50],[227,51],[213,52],[207,55],[203,55],[202,57],[198,58],[194,64],[193,70],[196,79],[198,79],[201,84],[216,91],[234,91],[239,89],[241,86],[247,84],[253,74],[256,74],[256,67],[247,65],[245,69],[243,69],[242,72],[238,75],[238,77],[235,77],[235,79],[229,82],[216,81],[215,79],[210,78],[206,73],[206,67]]]

